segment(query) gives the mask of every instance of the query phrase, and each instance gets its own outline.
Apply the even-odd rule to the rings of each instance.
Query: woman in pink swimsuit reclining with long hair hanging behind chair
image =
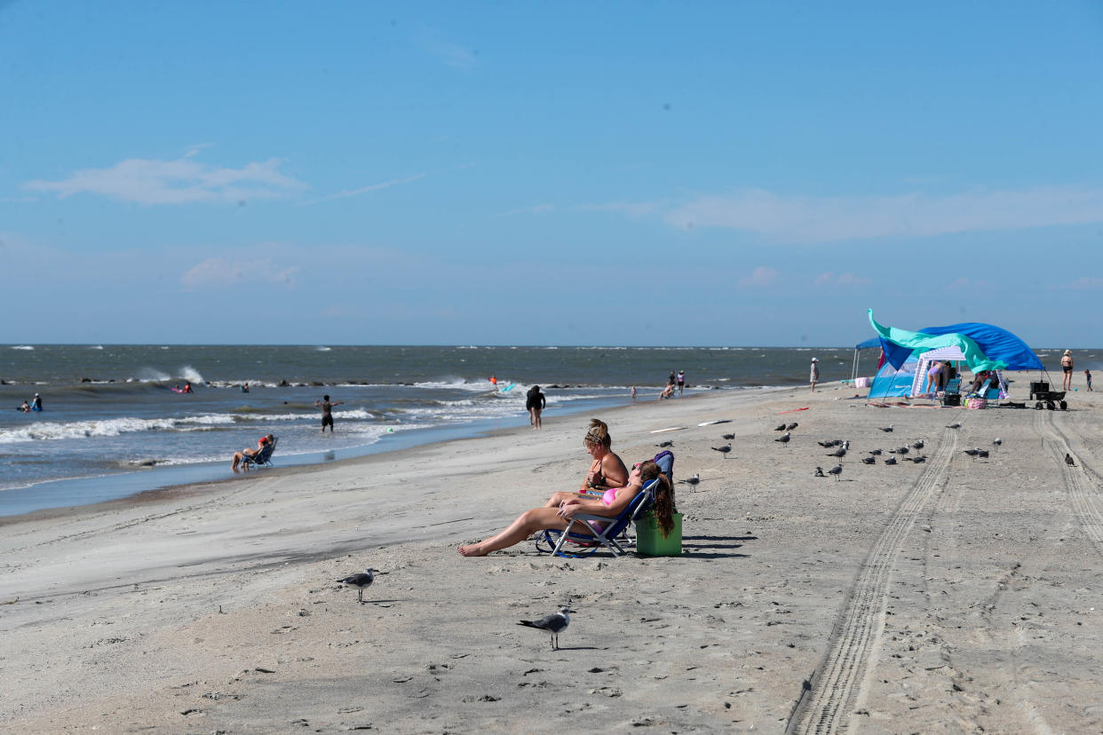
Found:
[[[629,475],[629,484],[625,487],[611,487],[606,490],[600,498],[587,500],[577,496],[566,498],[558,508],[533,508],[526,510],[517,517],[517,520],[510,523],[508,528],[492,536],[485,541],[459,547],[459,551],[464,556],[485,556],[492,551],[507,549],[516,543],[521,543],[533,533],[544,530],[564,531],[571,525],[571,518],[577,514],[591,514],[613,520],[625,510],[632,498],[643,488],[645,483],[658,477],[658,487],[655,493],[655,514],[658,516],[658,525],[664,530],[668,530],[674,525],[672,514],[674,512],[673,493],[665,475],[654,462],[644,462],[632,469]],[[591,521],[597,522],[597,521]],[[574,523],[572,531],[592,533],[588,526]]]

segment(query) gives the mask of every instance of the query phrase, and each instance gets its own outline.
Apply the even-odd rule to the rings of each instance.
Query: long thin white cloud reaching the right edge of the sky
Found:
[[[664,216],[682,228],[720,227],[790,242],[1024,229],[1103,221],[1103,188],[1049,186],[932,196],[782,196],[745,190],[700,196]]]

